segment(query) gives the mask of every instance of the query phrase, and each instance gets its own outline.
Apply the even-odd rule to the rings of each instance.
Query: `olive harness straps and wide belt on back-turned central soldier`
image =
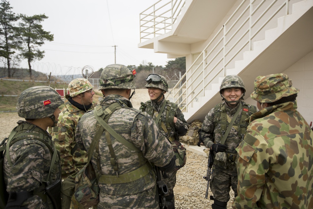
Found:
[[[110,116],[112,115],[112,113],[118,109],[121,109],[121,108],[129,108],[131,110],[134,110],[135,112],[138,112],[138,110],[131,108],[131,107],[128,107],[121,100],[111,104],[105,110],[102,109],[101,105],[98,105],[95,107],[94,111],[95,111],[95,114],[97,116],[100,116],[102,118],[102,120],[104,120],[104,122],[107,123]],[[138,112],[138,113],[141,114],[141,112]],[[99,122],[99,120],[98,120],[97,123],[101,124],[101,121]],[[107,144],[108,144],[108,147],[110,150],[110,155],[111,155],[110,163],[111,163],[116,175],[100,175],[99,182],[104,183],[104,184],[129,183],[129,182],[132,182],[134,180],[138,180],[140,178],[145,178],[146,183],[151,182],[151,180],[148,178],[147,175],[150,173],[152,166],[151,166],[150,162],[144,157],[142,151],[140,149],[138,149],[134,144],[132,144],[131,142],[129,142],[125,138],[123,138],[121,135],[117,134],[113,129],[105,130],[105,132],[106,132],[105,137],[106,137]],[[118,174],[119,169],[118,169],[118,164],[117,164],[117,157],[115,156],[115,153],[114,153],[114,150],[112,147],[110,135],[114,136],[114,138],[116,140],[118,140],[120,143],[124,144],[126,147],[128,147],[132,150],[135,150],[137,152],[138,159],[140,160],[139,161],[139,165],[140,165],[139,168],[137,168],[136,170],[133,170],[129,173],[126,173],[126,174],[122,174],[122,175]],[[96,157],[98,155],[97,150],[99,150],[99,149],[95,150],[96,151]],[[95,154],[94,154],[94,157],[95,157]],[[99,160],[97,162],[99,164]],[[97,166],[98,166],[98,170],[100,170],[100,165],[97,165]]]

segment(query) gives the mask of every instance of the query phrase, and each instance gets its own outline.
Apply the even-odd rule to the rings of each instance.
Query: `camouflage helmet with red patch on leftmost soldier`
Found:
[[[49,86],[34,86],[23,91],[18,97],[18,116],[26,119],[45,118],[53,115],[64,101],[58,92]]]

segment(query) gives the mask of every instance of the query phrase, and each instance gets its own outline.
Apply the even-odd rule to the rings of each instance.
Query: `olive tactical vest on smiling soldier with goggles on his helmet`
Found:
[[[161,129],[163,129],[162,128],[162,123],[164,123],[167,130],[175,130],[175,126],[174,126],[173,120],[174,120],[174,115],[175,115],[175,112],[176,112],[176,110],[178,108],[178,105],[176,103],[170,102],[168,100],[165,100],[164,102],[166,102],[166,106],[165,106],[165,108],[166,108],[166,117],[165,117],[165,119],[161,118],[158,121],[157,126],[158,126],[159,130],[161,130]],[[151,117],[153,115],[158,114],[158,112],[154,111],[154,109],[152,107],[151,100],[146,102],[146,108],[147,108],[147,113]],[[160,114],[162,114],[162,112],[160,112]],[[152,117],[152,118],[156,122],[156,117]],[[167,138],[170,139],[170,141],[172,141],[172,139],[173,139],[173,138],[171,138],[171,136],[167,136]]]

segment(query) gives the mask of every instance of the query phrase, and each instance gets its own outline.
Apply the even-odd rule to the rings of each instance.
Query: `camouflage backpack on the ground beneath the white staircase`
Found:
[[[199,142],[199,133],[198,130],[201,128],[202,122],[198,119],[192,121],[190,125],[188,125],[188,130],[185,136],[180,136],[179,141],[186,143],[188,145],[197,145]]]

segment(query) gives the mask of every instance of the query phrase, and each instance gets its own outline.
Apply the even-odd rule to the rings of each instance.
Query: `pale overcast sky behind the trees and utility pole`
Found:
[[[9,0],[15,14],[45,14],[42,25],[54,34],[54,41],[39,49],[45,57],[33,62],[33,69],[44,73],[72,74],[85,65],[94,71],[116,63],[139,65],[152,62],[166,65],[166,54],[140,49],[139,13],[156,0]],[[21,67],[28,68],[26,60]],[[73,66],[69,70],[69,66]],[[62,72],[62,73],[60,73]]]

